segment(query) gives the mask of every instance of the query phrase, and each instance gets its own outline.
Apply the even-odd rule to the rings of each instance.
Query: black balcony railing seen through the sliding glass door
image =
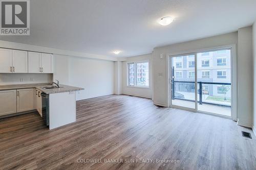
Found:
[[[184,100],[184,101],[191,101],[191,102],[195,102],[195,100],[189,100],[189,99],[181,99],[181,98],[177,98],[175,96],[175,84],[176,83],[189,83],[189,84],[195,84],[194,81],[174,81],[174,79],[172,80],[172,99],[178,99],[178,100]],[[231,107],[230,105],[225,105],[225,104],[216,104],[216,103],[210,103],[210,102],[203,102],[203,84],[212,84],[212,85],[231,85],[231,83],[215,83],[215,82],[197,82],[199,84],[199,89],[197,90],[197,93],[199,94],[199,101],[198,103],[200,105],[204,104],[210,104],[210,105],[217,105],[217,106],[225,106],[225,107]]]

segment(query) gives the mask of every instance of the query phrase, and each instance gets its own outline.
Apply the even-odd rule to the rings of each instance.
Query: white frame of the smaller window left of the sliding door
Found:
[[[142,85],[137,85],[137,64],[139,63],[148,63],[148,86],[142,86]],[[134,64],[134,85],[130,85],[129,82],[129,64]],[[150,89],[150,61],[149,60],[144,60],[144,61],[136,61],[136,62],[127,62],[127,72],[126,72],[126,77],[127,77],[127,83],[126,87],[133,87],[133,88],[145,88],[145,89]]]

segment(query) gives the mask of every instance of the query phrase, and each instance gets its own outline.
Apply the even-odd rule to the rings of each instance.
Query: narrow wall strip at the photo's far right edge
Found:
[[[253,132],[256,135],[256,21],[252,27],[253,38]]]

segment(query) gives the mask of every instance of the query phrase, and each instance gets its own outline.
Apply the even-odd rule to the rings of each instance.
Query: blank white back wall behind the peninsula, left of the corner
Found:
[[[114,93],[114,62],[69,57],[69,85],[82,87],[76,100]]]

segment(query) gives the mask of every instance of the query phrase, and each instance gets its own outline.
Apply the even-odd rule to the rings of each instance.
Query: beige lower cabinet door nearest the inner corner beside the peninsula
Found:
[[[34,109],[34,89],[17,90],[17,112],[23,112]]]

